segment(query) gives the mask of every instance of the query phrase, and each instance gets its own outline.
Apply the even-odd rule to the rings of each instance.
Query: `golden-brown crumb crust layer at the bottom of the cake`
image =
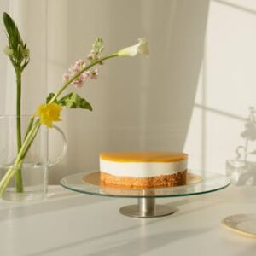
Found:
[[[176,187],[186,184],[187,170],[172,175],[158,177],[118,177],[101,172],[101,185],[127,189],[150,189],[159,187]]]

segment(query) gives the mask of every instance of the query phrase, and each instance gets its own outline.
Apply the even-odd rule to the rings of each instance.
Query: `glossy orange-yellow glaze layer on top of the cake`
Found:
[[[188,159],[188,154],[177,152],[108,152],[100,154],[101,160],[114,162],[178,162]]]

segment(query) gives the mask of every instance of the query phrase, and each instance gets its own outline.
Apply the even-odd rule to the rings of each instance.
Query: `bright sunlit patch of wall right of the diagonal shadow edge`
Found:
[[[255,10],[255,1],[211,1],[205,56],[184,147],[192,168],[225,173],[226,160],[235,159],[237,146],[244,143],[241,132],[248,108],[256,104]]]

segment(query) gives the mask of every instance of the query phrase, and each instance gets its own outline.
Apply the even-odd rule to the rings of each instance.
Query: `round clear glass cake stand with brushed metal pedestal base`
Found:
[[[100,183],[100,172],[80,172],[61,179],[61,185],[79,193],[90,195],[137,198],[137,205],[125,206],[119,212],[130,217],[151,218],[172,214],[173,207],[156,205],[158,197],[177,197],[200,195],[224,189],[230,185],[230,179],[218,173],[207,172],[196,174],[191,171],[187,174],[187,184],[177,187],[154,189],[123,189],[106,187]]]

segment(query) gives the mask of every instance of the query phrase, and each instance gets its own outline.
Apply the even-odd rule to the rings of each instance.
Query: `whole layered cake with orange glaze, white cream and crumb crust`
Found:
[[[104,186],[148,189],[186,184],[188,154],[109,152],[100,154]]]

